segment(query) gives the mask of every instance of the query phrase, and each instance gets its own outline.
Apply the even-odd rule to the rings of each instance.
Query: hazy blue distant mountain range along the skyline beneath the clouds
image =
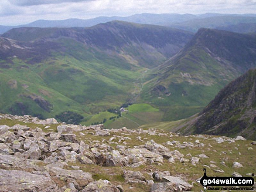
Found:
[[[92,27],[96,24],[121,20],[138,24],[154,24],[196,32],[201,27],[215,28],[240,23],[256,23],[256,14],[152,14],[142,13],[129,17],[96,17],[93,19],[37,20],[19,26],[0,26],[0,34],[18,27]]]

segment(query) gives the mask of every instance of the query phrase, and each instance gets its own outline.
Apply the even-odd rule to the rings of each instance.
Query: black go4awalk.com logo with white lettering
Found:
[[[204,172],[204,176],[198,182],[203,185],[205,190],[253,190],[253,177],[208,177],[206,168],[204,168]]]

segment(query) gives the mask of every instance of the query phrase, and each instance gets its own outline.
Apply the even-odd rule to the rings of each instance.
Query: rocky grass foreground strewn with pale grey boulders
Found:
[[[256,173],[256,142],[0,115],[1,192],[181,192]]]

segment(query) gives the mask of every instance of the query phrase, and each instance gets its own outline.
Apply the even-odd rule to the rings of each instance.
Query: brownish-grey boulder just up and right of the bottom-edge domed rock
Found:
[[[146,185],[146,178],[144,177],[144,175],[142,175],[141,172],[137,171],[137,172],[133,172],[133,171],[123,171],[123,177],[124,180],[128,183],[140,183],[143,185]]]

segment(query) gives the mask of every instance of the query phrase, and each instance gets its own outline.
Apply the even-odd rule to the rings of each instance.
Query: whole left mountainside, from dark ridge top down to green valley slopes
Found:
[[[138,94],[145,67],[174,55],[192,35],[118,21],[13,29],[0,38],[1,111],[47,118],[120,106]]]

